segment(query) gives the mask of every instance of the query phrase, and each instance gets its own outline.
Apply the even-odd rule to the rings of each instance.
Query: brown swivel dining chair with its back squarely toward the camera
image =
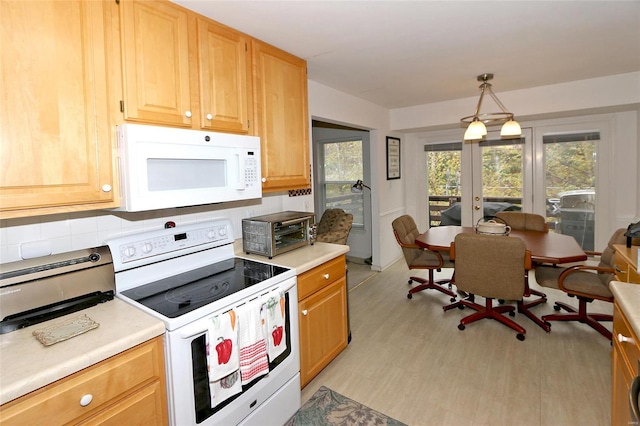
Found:
[[[514,306],[494,306],[494,299],[522,300],[525,291],[525,271],[531,268],[531,253],[519,238],[483,234],[458,234],[451,245],[455,265],[456,287],[468,294],[485,298],[482,306],[465,298],[459,302],[476,312],[460,320],[458,329],[475,321],[491,318],[517,331],[524,340],[526,330],[503,315],[515,315]]]

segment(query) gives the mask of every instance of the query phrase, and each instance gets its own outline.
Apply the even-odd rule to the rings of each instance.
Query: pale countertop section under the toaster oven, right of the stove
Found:
[[[258,262],[269,262],[288,268],[295,268],[297,275],[349,252],[349,246],[320,242],[291,250],[275,256],[272,259],[255,254],[246,254],[244,250],[242,250],[242,240],[236,240],[233,245],[233,249],[236,256],[253,259]]]

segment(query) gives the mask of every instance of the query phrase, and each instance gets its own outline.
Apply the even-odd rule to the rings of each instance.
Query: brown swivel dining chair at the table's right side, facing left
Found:
[[[625,244],[625,232],[624,228],[616,230],[601,253],[588,252],[600,256],[597,265],[582,264],[568,268],[540,265],[535,268],[534,274],[538,284],[562,290],[570,297],[578,299],[578,309],[563,302],[556,302],[553,309],[558,313],[542,316],[543,322],[550,325],[549,321],[578,321],[589,325],[611,340],[611,331],[600,322],[613,321],[613,316],[589,313],[587,304],[594,300],[613,303],[613,294],[609,290],[609,283],[615,279],[613,244]],[[566,312],[560,313],[561,310]]]

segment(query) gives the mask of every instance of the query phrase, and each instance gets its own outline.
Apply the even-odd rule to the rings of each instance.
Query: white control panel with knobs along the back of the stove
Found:
[[[193,252],[233,243],[231,223],[218,220],[129,235],[108,242],[114,263],[150,263],[168,253]]]

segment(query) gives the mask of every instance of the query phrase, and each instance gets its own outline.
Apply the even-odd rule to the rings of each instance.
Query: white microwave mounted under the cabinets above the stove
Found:
[[[262,197],[260,138],[117,126],[120,207],[139,212]]]

